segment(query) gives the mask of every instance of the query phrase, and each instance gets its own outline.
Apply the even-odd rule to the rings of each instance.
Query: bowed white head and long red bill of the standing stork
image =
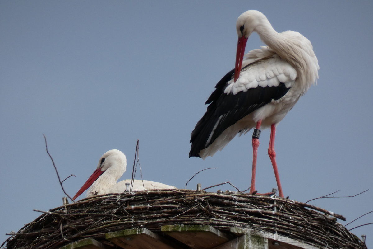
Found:
[[[238,35],[237,43],[237,53],[236,53],[236,65],[234,81],[239,77],[239,72],[241,71],[242,60],[244,59],[246,42],[251,33],[256,31],[258,26],[261,24],[269,24],[266,16],[257,10],[248,10],[242,13],[236,23],[236,30]]]

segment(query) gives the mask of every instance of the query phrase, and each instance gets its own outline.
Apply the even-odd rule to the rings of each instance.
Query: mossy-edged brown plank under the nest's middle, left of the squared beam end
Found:
[[[229,241],[229,236],[210,225],[164,225],[162,232],[195,249],[209,249]]]

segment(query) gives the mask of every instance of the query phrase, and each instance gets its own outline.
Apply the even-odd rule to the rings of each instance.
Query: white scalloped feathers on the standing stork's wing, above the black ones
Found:
[[[225,94],[237,94],[250,88],[272,87],[285,83],[291,87],[297,78],[297,71],[287,62],[279,58],[270,58],[260,63],[253,63],[242,69],[236,82],[228,82],[224,89]]]

